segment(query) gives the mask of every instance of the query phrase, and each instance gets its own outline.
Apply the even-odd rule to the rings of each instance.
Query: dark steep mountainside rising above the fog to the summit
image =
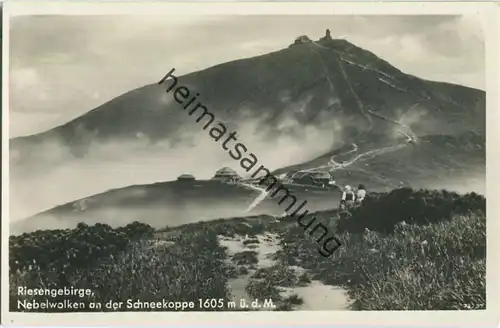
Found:
[[[172,66],[166,64],[158,80]],[[390,134],[381,123],[402,116],[417,135],[484,134],[485,128],[483,91],[406,75],[345,40],[323,39],[224,63],[182,76],[179,84],[199,92],[199,100],[218,120],[236,126],[257,120],[263,138],[293,134],[293,129],[281,128],[286,120],[302,126],[330,124],[332,133],[341,130],[337,138],[342,140],[368,130],[368,139]],[[138,136],[150,142],[179,141],[185,131],[199,127],[164,90],[155,83],[130,91],[62,126],[11,140],[11,151],[22,162],[43,151],[45,142],[61,143],[84,156],[91,142]]]

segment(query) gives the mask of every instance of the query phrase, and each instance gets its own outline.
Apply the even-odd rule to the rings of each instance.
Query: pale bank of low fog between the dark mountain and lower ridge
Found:
[[[288,118],[283,122],[288,129],[299,126]],[[264,165],[273,170],[310,160],[330,150],[335,139],[332,124],[282,128],[272,143],[266,139],[268,131],[263,130],[259,120],[247,119],[235,125],[234,131],[238,142],[248,148],[246,154],[253,153],[259,160],[255,169]],[[196,125],[194,118],[193,125]],[[11,169],[12,220],[109,189],[175,180],[183,173],[193,174],[197,179],[210,179],[224,166],[243,176],[253,173],[245,172],[239,161],[222,148],[225,138],[215,142],[208,129],[201,129],[201,124],[195,128],[198,132],[194,135],[191,129],[189,133],[179,130],[181,134],[177,138],[184,140],[180,145],[166,141],[152,145],[140,136],[135,141],[91,143],[85,157],[80,159],[58,140],[39,145],[36,161]],[[226,135],[232,131],[229,128]],[[11,153],[11,157],[15,155]]]

